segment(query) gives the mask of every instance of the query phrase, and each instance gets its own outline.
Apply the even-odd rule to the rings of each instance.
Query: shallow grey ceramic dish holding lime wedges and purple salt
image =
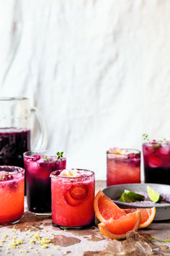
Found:
[[[147,185],[152,187],[156,192],[159,194],[166,194],[170,195],[170,186],[164,184],[122,184],[122,185],[115,185],[111,187],[106,187],[102,191],[104,195],[111,198],[120,208],[151,208],[153,206],[156,207],[156,216],[154,221],[164,221],[170,219],[170,203],[154,203],[151,205],[142,204],[142,203],[133,203],[133,202],[119,202],[117,198],[122,195],[125,189],[128,189],[133,192],[147,192]]]

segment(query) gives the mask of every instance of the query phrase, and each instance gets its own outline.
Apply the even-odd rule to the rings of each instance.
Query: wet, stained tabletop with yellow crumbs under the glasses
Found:
[[[104,187],[106,182],[97,181],[96,193]],[[52,226],[50,217],[28,212],[25,198],[19,223],[0,226],[0,255],[170,255],[170,242],[151,239],[170,239],[170,221],[153,222],[133,234],[135,239],[121,242],[104,237],[97,223],[96,219],[89,229],[62,231]]]

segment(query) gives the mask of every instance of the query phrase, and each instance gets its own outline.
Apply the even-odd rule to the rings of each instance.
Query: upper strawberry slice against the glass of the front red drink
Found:
[[[86,185],[73,185],[70,188],[70,194],[73,199],[81,200],[88,195],[89,189]]]

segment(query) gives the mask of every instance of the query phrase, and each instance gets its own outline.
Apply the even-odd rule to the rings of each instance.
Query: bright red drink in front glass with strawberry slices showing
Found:
[[[57,171],[50,175],[54,226],[81,228],[94,223],[94,172],[77,171],[79,176],[60,176]]]

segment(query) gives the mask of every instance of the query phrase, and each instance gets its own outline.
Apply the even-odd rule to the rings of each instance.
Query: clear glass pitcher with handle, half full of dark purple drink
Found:
[[[0,110],[0,166],[24,168],[24,152],[46,148],[45,121],[37,108],[30,108],[28,98],[0,98]],[[37,141],[32,138],[31,114],[37,120]]]

